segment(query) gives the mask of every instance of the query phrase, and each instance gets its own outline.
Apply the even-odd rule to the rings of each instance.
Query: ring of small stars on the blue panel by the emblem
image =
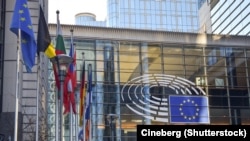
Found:
[[[195,113],[194,115],[186,115],[183,111],[183,106],[185,106],[185,104],[187,103],[191,103],[193,106],[195,106]],[[179,111],[180,111],[180,115],[183,116],[184,119],[186,120],[194,120],[196,119],[196,117],[199,116],[199,105],[197,103],[195,103],[194,100],[190,100],[190,99],[187,99],[187,100],[183,100],[182,103],[180,103],[180,107],[179,107]]]

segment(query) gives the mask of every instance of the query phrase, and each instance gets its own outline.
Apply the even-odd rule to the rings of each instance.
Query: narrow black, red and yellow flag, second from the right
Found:
[[[85,96],[86,96],[85,61],[83,60],[82,73],[81,73],[81,88],[80,88],[79,126],[83,126]]]

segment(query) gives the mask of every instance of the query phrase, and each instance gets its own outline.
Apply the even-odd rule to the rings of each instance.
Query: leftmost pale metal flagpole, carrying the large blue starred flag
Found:
[[[21,29],[18,29],[18,39],[17,39],[17,64],[16,64],[16,107],[15,107],[15,133],[14,133],[14,141],[17,141],[17,128],[18,128],[18,107],[19,107],[19,60],[20,60],[20,47],[21,47]]]

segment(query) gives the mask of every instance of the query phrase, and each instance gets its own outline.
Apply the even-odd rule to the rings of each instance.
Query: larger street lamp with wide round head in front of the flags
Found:
[[[63,85],[68,67],[73,62],[73,58],[65,54],[59,54],[51,58],[50,61],[56,66],[56,72],[60,80],[60,93],[56,97],[56,141],[63,141]],[[60,99],[60,103],[58,99]],[[58,127],[58,123],[60,123],[60,128]],[[60,136],[58,136],[58,132]],[[58,139],[58,137],[60,138]]]

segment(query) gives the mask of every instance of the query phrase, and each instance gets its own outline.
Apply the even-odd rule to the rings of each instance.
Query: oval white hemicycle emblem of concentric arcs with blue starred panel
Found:
[[[162,90],[164,90],[164,93]],[[168,123],[170,122],[170,101],[169,97],[166,97],[167,95],[177,95],[178,97],[187,95],[206,96],[206,93],[201,87],[188,79],[167,74],[144,74],[124,84],[121,89],[121,102],[124,102],[126,107],[137,115],[152,121]],[[199,98],[194,98],[194,100],[199,101]],[[183,118],[180,115],[184,114],[184,112],[179,113],[179,104],[183,101],[173,100],[172,102],[175,105],[175,102],[178,103],[176,107],[172,107],[174,111],[178,111],[178,113],[172,113],[175,116],[172,120],[174,122],[183,122],[184,120],[177,120],[179,117]],[[197,103],[200,105],[199,102]],[[208,108],[207,102],[205,105],[205,108]],[[208,110],[206,111],[208,112]],[[200,112],[195,114],[197,113],[200,114]],[[194,116],[194,119],[189,116],[184,116],[184,118],[189,119],[186,122],[192,123],[198,120],[198,115]],[[208,120],[208,116],[205,118]]]

